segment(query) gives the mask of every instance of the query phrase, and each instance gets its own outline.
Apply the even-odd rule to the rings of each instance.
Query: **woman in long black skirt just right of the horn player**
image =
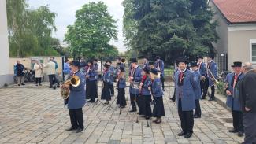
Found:
[[[97,95],[97,73],[93,61],[87,61],[87,67],[85,68],[86,77],[86,95],[87,99],[91,99],[89,102],[95,102]]]

